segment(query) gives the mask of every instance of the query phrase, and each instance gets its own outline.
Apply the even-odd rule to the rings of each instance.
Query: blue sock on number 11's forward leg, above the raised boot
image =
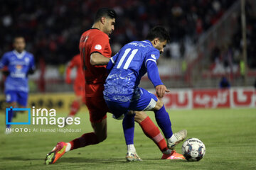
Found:
[[[171,130],[171,120],[169,118],[169,114],[166,112],[164,105],[159,109],[159,111],[154,111],[157,125],[161,128],[164,133],[164,137],[169,139],[173,132]]]

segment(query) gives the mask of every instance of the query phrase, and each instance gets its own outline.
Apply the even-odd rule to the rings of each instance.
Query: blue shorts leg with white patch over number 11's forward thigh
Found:
[[[132,111],[152,111],[156,107],[157,101],[159,101],[154,94],[140,88],[140,98],[138,101],[133,101],[130,104],[129,109]]]

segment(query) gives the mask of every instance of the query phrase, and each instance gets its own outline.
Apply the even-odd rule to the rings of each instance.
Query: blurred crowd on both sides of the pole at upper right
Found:
[[[246,13],[246,35],[247,35],[247,66],[256,68],[256,16],[252,4],[247,1]],[[245,67],[242,57],[242,26],[241,16],[238,16],[238,28],[235,30],[230,42],[222,46],[215,46],[211,52],[210,60],[213,73],[236,73]]]

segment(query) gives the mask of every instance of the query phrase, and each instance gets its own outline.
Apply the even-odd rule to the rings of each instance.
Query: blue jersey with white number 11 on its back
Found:
[[[140,97],[139,82],[148,73],[149,79],[157,86],[162,84],[156,67],[159,59],[157,50],[149,40],[129,42],[110,59],[107,69],[110,74],[103,91],[107,101],[134,101]]]

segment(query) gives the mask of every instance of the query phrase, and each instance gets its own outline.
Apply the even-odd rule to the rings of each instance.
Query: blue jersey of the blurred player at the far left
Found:
[[[5,81],[5,91],[28,92],[28,71],[35,69],[33,55],[16,50],[6,52],[0,61],[0,69],[7,66],[10,72]]]

